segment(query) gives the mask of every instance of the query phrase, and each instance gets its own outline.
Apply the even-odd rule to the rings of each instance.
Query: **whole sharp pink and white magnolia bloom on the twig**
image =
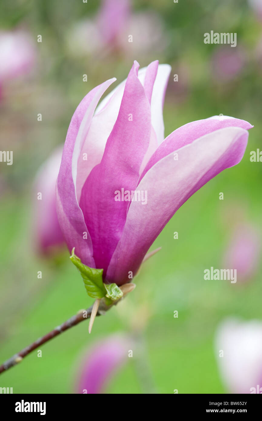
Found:
[[[138,69],[135,61],[127,79],[97,109],[115,79],[80,102],[56,187],[69,250],[75,247],[84,264],[104,269],[104,282],[117,285],[134,277],[176,210],[241,161],[252,127],[215,116],[188,123],[164,139],[162,107],[170,66],[154,61]]]

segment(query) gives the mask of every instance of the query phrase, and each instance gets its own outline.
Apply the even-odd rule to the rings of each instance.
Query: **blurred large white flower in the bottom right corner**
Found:
[[[262,393],[262,322],[225,320],[217,331],[215,354],[231,393]]]

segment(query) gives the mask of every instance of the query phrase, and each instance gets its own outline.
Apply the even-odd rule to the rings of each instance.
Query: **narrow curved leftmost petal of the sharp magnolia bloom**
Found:
[[[97,86],[78,105],[67,131],[56,184],[57,215],[67,246],[69,250],[75,247],[75,254],[91,267],[95,267],[92,241],[76,198],[77,164],[96,105],[114,81],[115,79],[110,79]],[[85,239],[84,232],[87,233]]]

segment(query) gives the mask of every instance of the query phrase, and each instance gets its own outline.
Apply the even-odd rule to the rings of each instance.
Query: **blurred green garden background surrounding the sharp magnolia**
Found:
[[[30,354],[2,374],[0,386],[13,387],[13,393],[74,393],[80,355],[98,338],[130,331],[146,308],[147,362],[158,392],[227,392],[214,336],[225,317],[262,320],[260,255],[254,270],[236,284],[205,281],[203,270],[225,267],[236,227],[240,236],[247,224],[259,238],[262,232],[262,163],[250,162],[249,155],[262,148],[262,19],[251,4],[134,0],[128,20],[110,39],[113,19],[101,17],[102,2],[0,2],[1,31],[26,32],[33,55],[27,71],[0,80],[0,149],[13,150],[13,165],[0,163],[0,360],[93,301],[66,249],[49,257],[38,253],[33,193],[37,171],[64,142],[72,114],[89,90],[110,77],[125,79],[134,59],[140,67],[158,59],[172,67],[163,112],[166,136],[219,114],[254,125],[241,163],[178,210],[152,246],[162,249],[144,264],[136,289],[119,309],[97,318],[91,335],[83,322],[40,347],[41,358],[36,351]],[[236,32],[237,47],[204,44],[203,34],[211,30]],[[143,393],[137,374],[130,358],[105,392]]]

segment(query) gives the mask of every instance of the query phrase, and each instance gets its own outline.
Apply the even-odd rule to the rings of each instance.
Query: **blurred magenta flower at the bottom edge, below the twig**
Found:
[[[80,363],[76,393],[102,393],[113,374],[128,361],[130,347],[131,342],[120,335],[96,344]]]

